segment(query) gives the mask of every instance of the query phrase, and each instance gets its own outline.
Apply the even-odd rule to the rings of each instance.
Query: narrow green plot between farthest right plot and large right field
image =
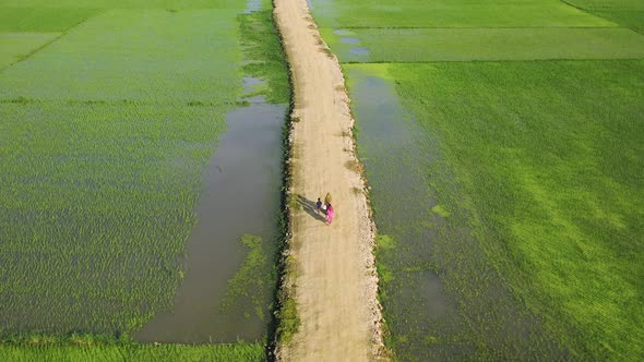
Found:
[[[342,62],[644,58],[627,28],[356,28],[321,31]],[[366,48],[369,55],[356,52]]]

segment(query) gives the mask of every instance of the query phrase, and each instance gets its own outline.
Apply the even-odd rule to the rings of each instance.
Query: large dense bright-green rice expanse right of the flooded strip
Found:
[[[389,72],[438,140],[439,203],[515,294],[577,358],[643,355],[644,61]]]

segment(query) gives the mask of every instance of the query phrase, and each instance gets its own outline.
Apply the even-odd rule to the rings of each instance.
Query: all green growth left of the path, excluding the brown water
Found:
[[[270,317],[257,341],[132,339],[190,276],[206,168],[252,97],[289,100],[265,1],[0,1],[0,360],[265,358]],[[227,315],[248,314],[245,298],[272,307],[269,222],[259,249],[226,241],[239,250],[238,273],[217,276],[230,274]],[[260,287],[241,295],[243,282]]]

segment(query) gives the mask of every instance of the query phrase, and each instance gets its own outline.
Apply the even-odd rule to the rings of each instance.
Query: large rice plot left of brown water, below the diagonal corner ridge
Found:
[[[38,9],[5,26],[58,14]],[[127,334],[170,309],[241,94],[238,12],[97,11],[0,72],[2,331]]]

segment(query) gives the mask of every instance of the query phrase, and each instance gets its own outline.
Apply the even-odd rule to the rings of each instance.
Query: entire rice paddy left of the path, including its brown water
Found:
[[[90,2],[0,5],[0,337],[263,350],[289,98],[271,4]]]

